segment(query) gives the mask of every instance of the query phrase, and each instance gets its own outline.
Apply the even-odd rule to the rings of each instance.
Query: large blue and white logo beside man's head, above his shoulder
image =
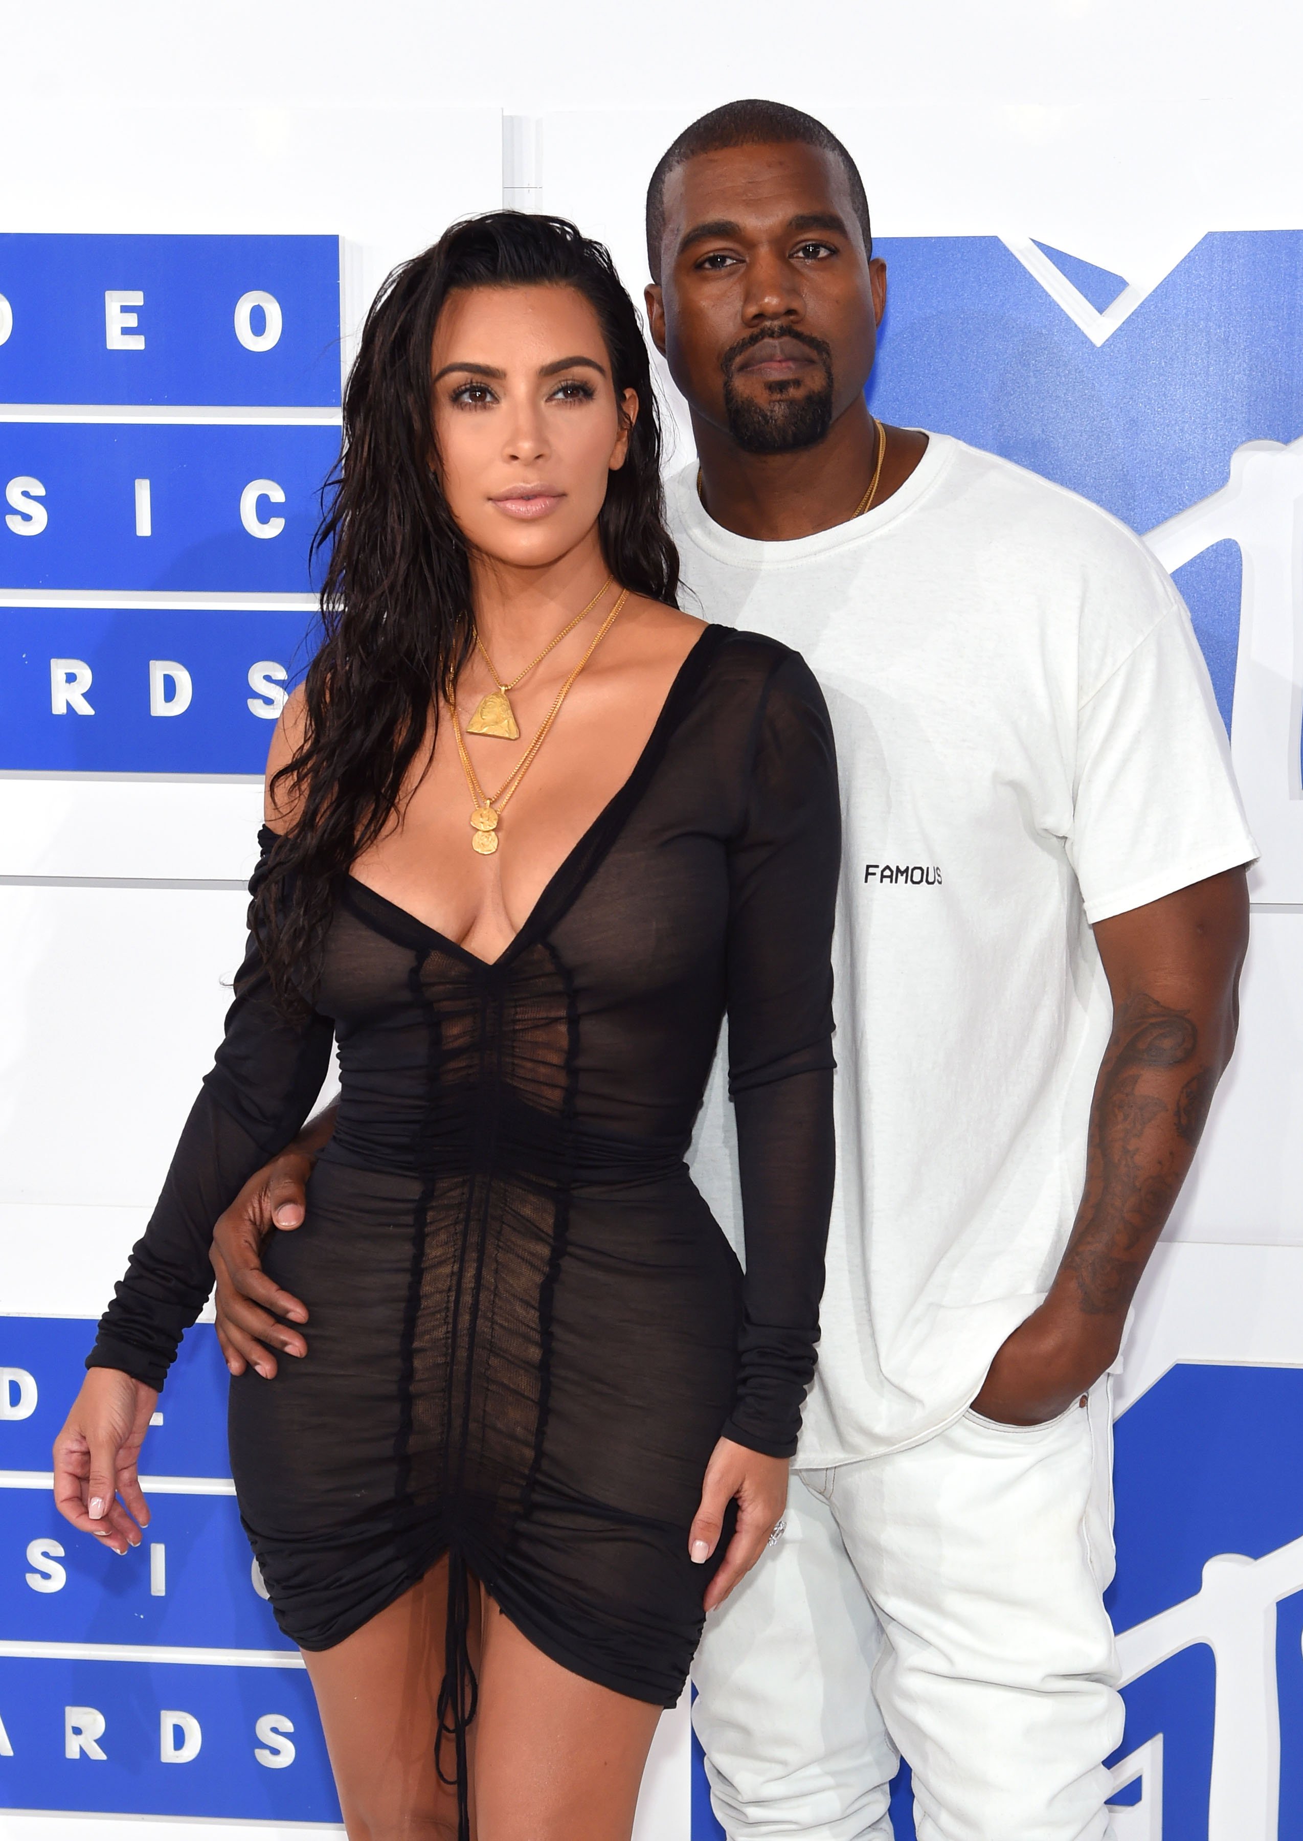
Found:
[[[1303,900],[1303,232],[1205,236],[1158,285],[1031,239],[883,237],[869,401],[1113,512],[1189,602],[1250,825]]]

